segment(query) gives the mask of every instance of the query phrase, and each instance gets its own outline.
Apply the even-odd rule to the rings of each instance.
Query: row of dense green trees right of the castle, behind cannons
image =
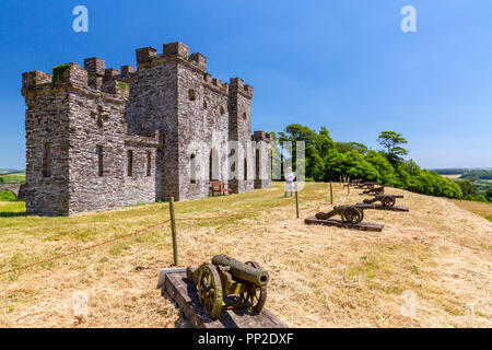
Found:
[[[338,180],[347,175],[352,179],[388,184],[424,195],[464,197],[457,183],[405,160],[408,150],[402,145],[407,140],[395,131],[379,135],[377,140],[382,151],[370,150],[356,142],[336,142],[325,127],[317,132],[298,124],[288,126],[283,132],[273,132],[273,138],[281,142],[305,142],[306,180]],[[293,163],[295,165],[295,160]]]

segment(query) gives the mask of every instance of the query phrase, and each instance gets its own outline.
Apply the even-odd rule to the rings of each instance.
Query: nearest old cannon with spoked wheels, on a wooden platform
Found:
[[[212,318],[219,318],[229,295],[238,295],[234,308],[247,307],[260,313],[267,300],[268,272],[258,262],[242,262],[227,255],[215,255],[212,264],[186,269],[186,277],[196,285],[200,304]]]

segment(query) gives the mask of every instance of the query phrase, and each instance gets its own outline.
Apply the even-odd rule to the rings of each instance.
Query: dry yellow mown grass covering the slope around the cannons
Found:
[[[306,226],[281,184],[249,194],[176,203],[183,266],[214,254],[255,259],[271,276],[267,308],[291,327],[491,327],[492,223],[435,197],[398,189],[411,211],[366,211],[382,233]],[[333,185],[336,203],[361,200]],[[301,215],[329,209],[327,184],[300,192]],[[168,218],[154,203],[73,218],[24,217],[0,203],[0,270],[43,260]],[[11,212],[5,214],[4,212]],[[3,214],[2,214],[3,212]],[[16,213],[15,213],[16,212]],[[0,276],[1,327],[186,325],[155,289],[172,264],[169,228]],[[89,296],[89,314],[73,296]],[[75,294],[74,294],[75,293]]]

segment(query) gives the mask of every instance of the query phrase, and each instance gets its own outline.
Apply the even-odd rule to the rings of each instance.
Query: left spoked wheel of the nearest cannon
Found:
[[[204,264],[201,267],[197,290],[203,310],[210,317],[219,318],[222,312],[222,284],[219,272],[212,264]]]

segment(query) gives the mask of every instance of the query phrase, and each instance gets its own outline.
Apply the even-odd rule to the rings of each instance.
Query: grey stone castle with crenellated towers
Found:
[[[271,186],[271,136],[251,135],[253,88],[222,83],[181,43],[139,48],[137,69],[66,63],[22,75],[26,207],[42,215]]]

